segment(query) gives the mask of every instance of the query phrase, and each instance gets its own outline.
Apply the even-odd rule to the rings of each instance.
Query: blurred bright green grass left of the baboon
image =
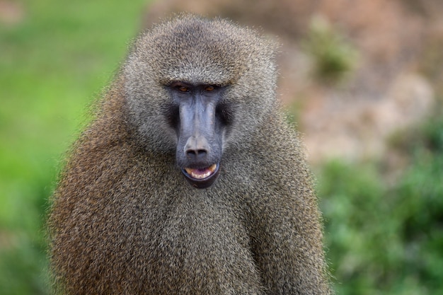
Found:
[[[146,0],[21,1],[0,23],[0,293],[48,294],[43,224],[85,107],[112,79]]]

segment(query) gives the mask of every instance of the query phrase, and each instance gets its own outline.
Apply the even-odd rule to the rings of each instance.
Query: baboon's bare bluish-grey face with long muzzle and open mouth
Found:
[[[166,116],[178,138],[178,166],[191,185],[209,187],[219,174],[224,135],[232,120],[222,100],[226,86],[173,81],[167,88],[173,103]]]

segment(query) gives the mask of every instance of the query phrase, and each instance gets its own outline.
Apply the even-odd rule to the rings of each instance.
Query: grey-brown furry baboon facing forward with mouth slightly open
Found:
[[[62,294],[330,294],[275,45],[183,15],[135,40],[50,212]]]

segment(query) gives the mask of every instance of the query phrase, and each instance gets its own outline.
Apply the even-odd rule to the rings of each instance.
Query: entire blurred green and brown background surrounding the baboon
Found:
[[[443,1],[0,0],[0,294],[50,294],[63,158],[143,28],[179,11],[280,42],[338,294],[443,294]]]

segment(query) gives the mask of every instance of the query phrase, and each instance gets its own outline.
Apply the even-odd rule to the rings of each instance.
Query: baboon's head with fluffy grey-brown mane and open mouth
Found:
[[[140,140],[174,150],[190,184],[209,187],[224,151],[247,146],[275,102],[274,51],[251,30],[195,16],[144,33],[122,71]]]

